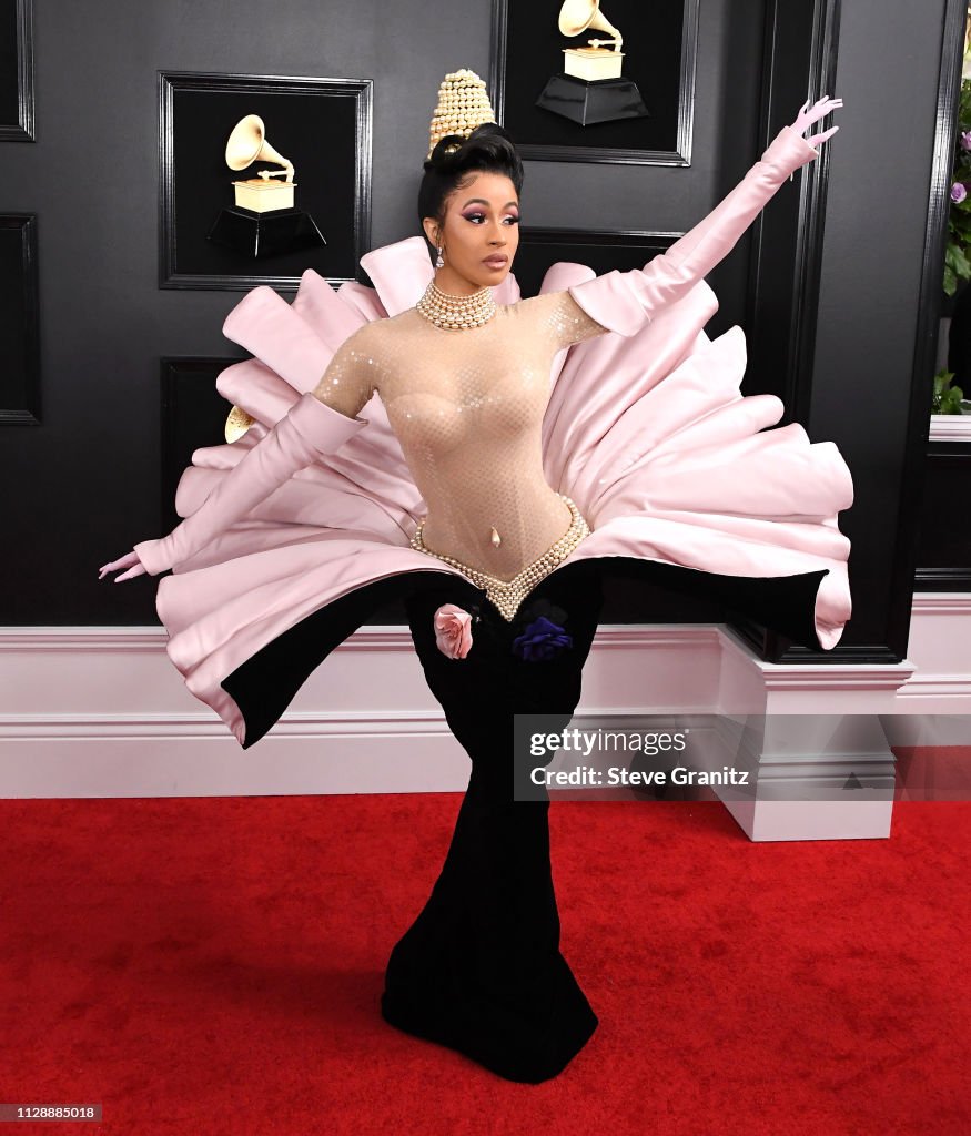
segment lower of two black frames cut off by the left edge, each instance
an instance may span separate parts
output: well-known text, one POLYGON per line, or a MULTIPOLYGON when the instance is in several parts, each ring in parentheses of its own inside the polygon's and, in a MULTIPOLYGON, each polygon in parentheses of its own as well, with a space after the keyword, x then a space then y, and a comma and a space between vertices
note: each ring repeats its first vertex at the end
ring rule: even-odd
POLYGON ((0 425, 40 426, 36 214, 0 214, 0 425))

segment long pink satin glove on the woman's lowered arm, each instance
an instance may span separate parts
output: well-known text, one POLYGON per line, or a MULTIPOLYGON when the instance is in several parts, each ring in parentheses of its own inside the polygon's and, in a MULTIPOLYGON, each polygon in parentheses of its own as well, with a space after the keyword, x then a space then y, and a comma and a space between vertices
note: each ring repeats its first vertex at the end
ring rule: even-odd
POLYGON ((103 578, 106 571, 127 568, 128 571, 115 578, 117 584, 146 571, 157 576, 182 563, 246 517, 293 474, 313 465, 321 454, 333 453, 366 425, 365 419, 349 418, 309 392, 302 394, 191 517, 168 536, 135 544, 134 552, 100 568, 98 578, 103 578))

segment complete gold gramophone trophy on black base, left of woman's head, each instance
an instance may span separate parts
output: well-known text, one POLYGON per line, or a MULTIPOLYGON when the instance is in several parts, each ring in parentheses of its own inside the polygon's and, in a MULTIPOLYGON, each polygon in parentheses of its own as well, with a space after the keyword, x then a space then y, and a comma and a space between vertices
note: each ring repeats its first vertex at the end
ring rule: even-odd
POLYGON ((224 208, 209 229, 208 240, 250 257, 273 257, 327 242, 313 217, 293 201, 293 162, 266 140, 259 115, 247 115, 226 142, 226 165, 241 170, 255 161, 272 161, 282 169, 258 169, 256 177, 233 182, 234 207, 224 208), (282 182, 273 181, 282 176, 282 182))

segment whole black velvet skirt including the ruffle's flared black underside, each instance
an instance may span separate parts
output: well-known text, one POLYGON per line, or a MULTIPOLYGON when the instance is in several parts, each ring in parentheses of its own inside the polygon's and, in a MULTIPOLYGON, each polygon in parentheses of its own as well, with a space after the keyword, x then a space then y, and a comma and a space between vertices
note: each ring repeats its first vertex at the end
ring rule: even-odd
POLYGON ((523 601, 512 624, 463 576, 429 570, 382 578, 301 619, 222 684, 243 713, 248 749, 335 646, 382 603, 404 601, 425 678, 472 771, 441 876, 391 954, 382 1013, 395 1026, 458 1050, 511 1080, 555 1077, 597 1026, 559 951, 549 801, 536 786, 522 792, 513 728, 520 713, 550 716, 543 724, 550 732, 570 724, 603 585, 619 569, 727 603, 811 650, 820 646, 813 612, 824 570, 766 579, 607 557, 557 568, 523 601), (465 659, 449 659, 435 644, 432 620, 442 603, 476 617, 465 659), (571 643, 550 658, 529 660, 513 646, 539 616, 562 626, 571 643))

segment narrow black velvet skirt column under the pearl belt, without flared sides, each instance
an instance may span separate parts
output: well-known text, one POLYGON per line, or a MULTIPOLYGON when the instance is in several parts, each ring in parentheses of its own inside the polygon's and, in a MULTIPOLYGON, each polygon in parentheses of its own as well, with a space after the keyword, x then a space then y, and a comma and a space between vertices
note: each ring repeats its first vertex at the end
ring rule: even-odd
POLYGON ((549 800, 545 790, 540 800, 514 794, 513 716, 549 715, 553 730, 570 722, 601 600, 597 561, 580 561, 541 580, 513 623, 462 579, 406 601, 429 687, 472 771, 441 875, 391 952, 381 1011, 515 1081, 555 1077, 597 1027, 559 950, 549 800), (442 603, 473 615, 464 659, 435 643, 442 603), (524 657, 514 641, 541 615, 570 638, 524 657))

